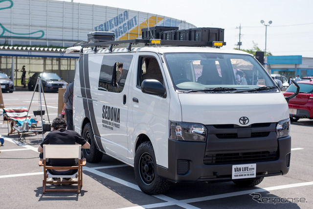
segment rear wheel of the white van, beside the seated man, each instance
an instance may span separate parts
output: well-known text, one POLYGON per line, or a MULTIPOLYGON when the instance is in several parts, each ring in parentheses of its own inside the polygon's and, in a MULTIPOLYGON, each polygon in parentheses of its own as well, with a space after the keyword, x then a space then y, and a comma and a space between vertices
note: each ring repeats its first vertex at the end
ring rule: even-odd
POLYGON ((83 138, 90 144, 90 149, 83 149, 86 161, 89 163, 98 163, 99 161, 101 161, 103 153, 97 149, 90 123, 87 123, 84 127, 83 138))

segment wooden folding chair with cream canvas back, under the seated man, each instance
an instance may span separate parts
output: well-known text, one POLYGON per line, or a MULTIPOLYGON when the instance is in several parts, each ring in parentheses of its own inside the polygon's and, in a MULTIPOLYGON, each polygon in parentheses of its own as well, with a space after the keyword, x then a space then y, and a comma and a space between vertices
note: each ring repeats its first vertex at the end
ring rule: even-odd
POLYGON ((86 165, 86 161, 81 159, 81 146, 80 144, 44 144, 44 159, 39 162, 39 166, 44 166, 44 180, 43 180, 43 194, 46 191, 76 191, 78 194, 80 192, 80 187, 83 186, 83 166, 86 165), (49 166, 46 165, 46 159, 78 159, 78 165, 75 166, 49 166), (65 170, 74 170, 77 169, 77 172, 73 175, 52 175, 49 173, 48 169, 65 169, 65 170), (53 182, 47 181, 48 178, 77 178, 74 182, 53 182), (46 188, 46 184, 54 185, 69 185, 77 184, 77 188, 66 189, 66 188, 46 188))

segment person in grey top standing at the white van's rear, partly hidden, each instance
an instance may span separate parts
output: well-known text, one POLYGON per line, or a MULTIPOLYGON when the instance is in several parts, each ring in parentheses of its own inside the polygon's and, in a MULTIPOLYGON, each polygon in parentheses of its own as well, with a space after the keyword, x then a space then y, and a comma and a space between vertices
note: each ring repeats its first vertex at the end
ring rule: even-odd
POLYGON ((65 116, 67 117, 67 130, 73 130, 73 91, 74 82, 67 85, 67 89, 63 95, 65 106, 65 116))

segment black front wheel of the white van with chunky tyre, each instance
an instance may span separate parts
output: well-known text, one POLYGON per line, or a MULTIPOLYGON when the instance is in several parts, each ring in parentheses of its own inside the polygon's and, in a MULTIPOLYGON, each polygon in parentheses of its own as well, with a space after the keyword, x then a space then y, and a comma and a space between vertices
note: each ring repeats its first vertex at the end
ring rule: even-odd
POLYGON ((156 157, 150 141, 141 143, 134 159, 135 179, 139 188, 147 194, 165 193, 170 182, 157 175, 156 157))

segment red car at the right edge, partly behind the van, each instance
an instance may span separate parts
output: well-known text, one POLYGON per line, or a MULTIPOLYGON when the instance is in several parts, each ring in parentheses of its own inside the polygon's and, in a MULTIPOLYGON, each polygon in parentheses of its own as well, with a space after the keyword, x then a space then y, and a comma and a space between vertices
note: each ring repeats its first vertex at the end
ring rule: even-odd
MULTIPOLYGON (((291 121, 299 118, 313 119, 313 80, 303 80, 297 82, 300 86, 299 94, 289 101, 289 114, 291 121)), ((284 96, 290 96, 296 91, 296 87, 288 87, 284 96)))

